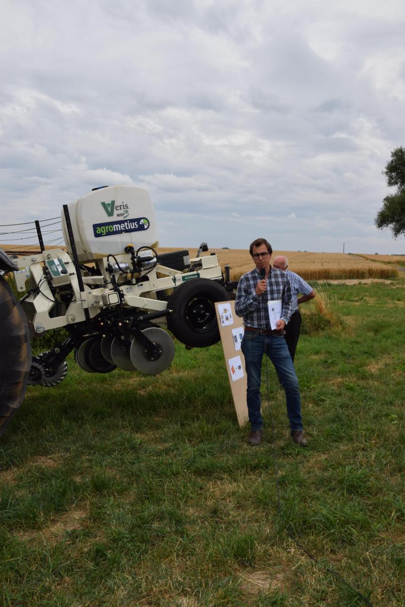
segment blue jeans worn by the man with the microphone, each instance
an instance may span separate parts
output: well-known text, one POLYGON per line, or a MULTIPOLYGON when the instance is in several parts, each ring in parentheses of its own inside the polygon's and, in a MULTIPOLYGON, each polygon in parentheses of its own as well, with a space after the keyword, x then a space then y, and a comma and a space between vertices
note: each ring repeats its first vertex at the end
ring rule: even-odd
POLYGON ((263 354, 267 354, 285 390, 290 429, 302 430, 298 378, 284 337, 260 335, 259 333, 245 331, 242 339, 242 352, 245 356, 248 379, 247 405, 251 429, 261 430, 263 426, 262 413, 260 412, 260 383, 263 354))

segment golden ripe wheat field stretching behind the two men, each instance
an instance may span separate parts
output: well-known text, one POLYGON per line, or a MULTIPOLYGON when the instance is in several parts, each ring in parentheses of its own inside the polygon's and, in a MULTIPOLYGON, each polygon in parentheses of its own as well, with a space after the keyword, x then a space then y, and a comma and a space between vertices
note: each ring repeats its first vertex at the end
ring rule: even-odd
MULTIPOLYGON (((175 248, 159 248, 158 253, 176 251, 175 248)), ((197 254, 196 248, 188 249, 190 257, 197 254)), ((209 249, 209 253, 216 253, 222 268, 230 266, 231 280, 238 280, 242 274, 253 268, 249 251, 247 249, 209 249)), ((207 253, 205 253, 207 254, 207 253)), ((288 258, 289 270, 298 273, 305 280, 333 280, 333 279, 368 279, 368 278, 396 278, 398 270, 390 263, 375 263, 366 256, 355 256, 344 253, 310 253, 307 251, 273 251, 273 259, 277 255, 288 258)), ((392 260, 391 256, 387 257, 392 260)), ((401 256, 398 259, 404 260, 401 256)), ((378 261, 380 261, 378 259, 378 261)))

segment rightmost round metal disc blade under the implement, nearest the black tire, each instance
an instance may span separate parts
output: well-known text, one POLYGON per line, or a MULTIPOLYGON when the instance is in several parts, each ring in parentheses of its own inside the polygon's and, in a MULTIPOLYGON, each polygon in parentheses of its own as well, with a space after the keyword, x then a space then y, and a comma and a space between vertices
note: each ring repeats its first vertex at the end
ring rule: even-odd
POLYGON ((174 359, 174 341, 166 331, 160 328, 150 327, 144 329, 142 333, 152 342, 160 345, 162 354, 155 361, 149 361, 145 356, 143 345, 134 339, 131 344, 131 361, 138 371, 146 373, 146 375, 162 373, 174 359))

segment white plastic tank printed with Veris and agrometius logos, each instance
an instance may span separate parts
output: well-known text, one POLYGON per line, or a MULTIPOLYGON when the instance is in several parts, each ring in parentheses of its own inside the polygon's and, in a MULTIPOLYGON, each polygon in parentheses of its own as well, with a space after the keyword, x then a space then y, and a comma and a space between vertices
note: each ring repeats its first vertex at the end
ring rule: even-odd
MULTIPOLYGON (((67 205, 80 262, 124 253, 126 245, 156 248, 157 227, 148 192, 135 186, 98 188, 67 205)), ((69 236, 62 210, 62 229, 69 254, 69 236)))

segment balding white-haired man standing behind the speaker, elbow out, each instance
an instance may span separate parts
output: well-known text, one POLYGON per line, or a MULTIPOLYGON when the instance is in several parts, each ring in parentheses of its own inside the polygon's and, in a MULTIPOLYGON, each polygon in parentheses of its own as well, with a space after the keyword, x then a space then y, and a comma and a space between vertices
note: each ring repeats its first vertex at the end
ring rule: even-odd
POLYGON ((288 351, 290 352, 291 358, 294 361, 295 351, 299 339, 299 330, 302 322, 298 305, 313 299, 316 296, 316 293, 313 288, 301 278, 301 276, 287 270, 288 259, 284 255, 274 257, 273 268, 277 268, 277 270, 284 270, 288 276, 288 280, 290 280, 291 291, 293 292, 291 318, 288 321, 288 324, 285 325, 285 341, 287 342, 288 351), (302 293, 301 297, 298 297, 299 293, 302 293))

